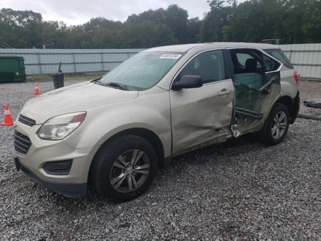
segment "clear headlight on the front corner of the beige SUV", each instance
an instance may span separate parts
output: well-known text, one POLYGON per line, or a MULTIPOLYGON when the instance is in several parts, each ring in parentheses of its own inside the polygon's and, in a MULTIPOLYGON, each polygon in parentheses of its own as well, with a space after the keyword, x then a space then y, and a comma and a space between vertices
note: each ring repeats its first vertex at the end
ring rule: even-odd
POLYGON ((52 117, 38 131, 38 137, 44 140, 61 140, 76 130, 84 121, 87 112, 75 112, 52 117))

